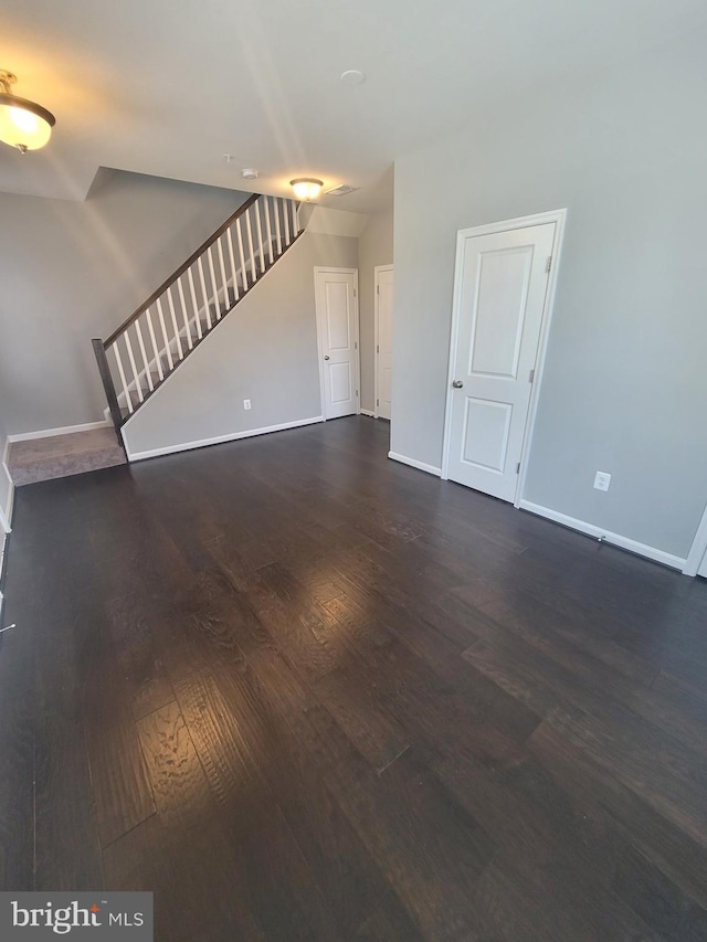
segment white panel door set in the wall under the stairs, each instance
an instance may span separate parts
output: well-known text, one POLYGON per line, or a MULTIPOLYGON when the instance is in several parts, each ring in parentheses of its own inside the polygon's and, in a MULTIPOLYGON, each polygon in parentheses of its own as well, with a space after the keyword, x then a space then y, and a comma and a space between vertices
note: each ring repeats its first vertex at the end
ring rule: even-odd
POLYGON ((325 419, 358 412, 358 274, 317 268, 316 303, 325 419))

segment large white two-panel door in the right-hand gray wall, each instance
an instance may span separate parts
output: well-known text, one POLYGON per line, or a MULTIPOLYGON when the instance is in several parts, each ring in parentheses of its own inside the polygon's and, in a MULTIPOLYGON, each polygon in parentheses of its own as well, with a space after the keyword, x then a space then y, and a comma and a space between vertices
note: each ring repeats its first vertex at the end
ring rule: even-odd
POLYGON ((504 500, 516 496, 555 227, 460 236, 447 473, 504 500))

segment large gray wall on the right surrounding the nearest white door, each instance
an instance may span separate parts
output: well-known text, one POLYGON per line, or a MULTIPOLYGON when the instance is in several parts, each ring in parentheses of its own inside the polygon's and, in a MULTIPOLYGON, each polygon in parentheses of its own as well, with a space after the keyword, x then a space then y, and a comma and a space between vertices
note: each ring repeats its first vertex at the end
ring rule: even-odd
POLYGON ((395 452, 441 464, 456 231, 567 207, 525 497, 687 554, 707 496, 701 62, 666 46, 397 162, 395 452))

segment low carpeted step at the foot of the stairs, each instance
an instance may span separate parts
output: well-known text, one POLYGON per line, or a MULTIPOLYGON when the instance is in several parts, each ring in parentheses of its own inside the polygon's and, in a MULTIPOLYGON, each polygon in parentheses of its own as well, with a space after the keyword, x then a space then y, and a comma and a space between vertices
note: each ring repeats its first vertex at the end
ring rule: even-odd
POLYGON ((113 428, 12 442, 8 469, 15 487, 126 464, 113 428))

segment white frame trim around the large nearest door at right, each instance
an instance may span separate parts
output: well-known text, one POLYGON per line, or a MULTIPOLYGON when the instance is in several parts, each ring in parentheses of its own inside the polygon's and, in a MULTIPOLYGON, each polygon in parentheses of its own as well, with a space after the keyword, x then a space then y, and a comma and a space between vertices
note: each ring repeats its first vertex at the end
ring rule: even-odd
POLYGON ((535 360, 535 377, 532 380, 532 389, 530 390, 530 402, 528 405, 528 416, 526 419, 526 427, 523 433, 523 448, 520 452, 520 473, 516 485, 516 496, 514 498, 514 507, 520 506, 520 500, 525 493, 526 473, 528 465, 528 455, 530 453, 530 444, 532 442, 532 433, 535 431, 535 421, 538 411, 538 398, 540 385, 542 384, 542 374, 545 371, 545 354, 550 336, 550 324, 552 321, 552 311, 555 307, 555 294, 557 289, 557 276, 560 271, 560 261, 562 255, 562 244, 564 242, 564 224, 567 220, 567 208, 561 210, 550 210, 549 212, 535 213, 534 215, 518 216, 517 219, 507 219, 503 222, 492 222, 487 225, 475 225, 471 229, 460 229, 456 233, 456 256, 454 262, 454 293, 452 300, 452 332, 450 335, 450 362, 446 378, 446 405, 444 409, 444 440, 442 445, 442 480, 449 480, 450 468, 450 449, 451 449, 451 424, 452 424, 452 380, 454 379, 454 367, 456 363, 456 351, 458 341, 458 330, 461 321, 461 305, 462 305, 462 262, 464 258, 464 243, 469 237, 477 235, 494 235, 499 232, 508 232, 516 229, 529 229, 534 225, 544 225, 548 222, 555 223, 555 241, 552 243, 552 264, 550 266, 550 277, 548 278, 548 287, 545 295, 545 304, 542 306, 542 319, 540 321, 540 337, 538 340, 538 351, 535 360))

